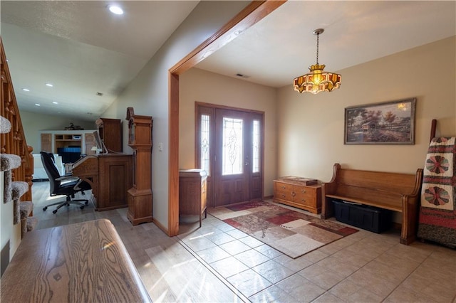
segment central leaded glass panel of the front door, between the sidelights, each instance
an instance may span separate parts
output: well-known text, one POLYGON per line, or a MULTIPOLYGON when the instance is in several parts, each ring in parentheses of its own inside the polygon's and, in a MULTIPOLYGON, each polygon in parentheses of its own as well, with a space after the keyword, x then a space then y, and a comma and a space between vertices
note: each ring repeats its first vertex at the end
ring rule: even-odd
POLYGON ((223 117, 222 175, 242 174, 242 119, 223 117))

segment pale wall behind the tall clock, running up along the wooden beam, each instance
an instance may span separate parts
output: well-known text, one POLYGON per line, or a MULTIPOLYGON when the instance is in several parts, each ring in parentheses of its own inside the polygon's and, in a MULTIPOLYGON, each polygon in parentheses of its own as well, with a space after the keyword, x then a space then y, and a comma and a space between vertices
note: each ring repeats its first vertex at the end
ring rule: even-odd
MULTIPOLYGON (((162 226, 168 226, 168 153, 169 108, 168 70, 199 44, 222 28, 249 1, 201 1, 172 33, 165 45, 158 50, 138 76, 122 92, 103 117, 125 119, 127 107, 133 107, 136 115, 153 117, 152 129, 152 192, 153 217, 162 226), (163 151, 158 151, 162 143, 163 151)), ((123 151, 131 153, 127 146, 128 124, 123 124, 123 151)))

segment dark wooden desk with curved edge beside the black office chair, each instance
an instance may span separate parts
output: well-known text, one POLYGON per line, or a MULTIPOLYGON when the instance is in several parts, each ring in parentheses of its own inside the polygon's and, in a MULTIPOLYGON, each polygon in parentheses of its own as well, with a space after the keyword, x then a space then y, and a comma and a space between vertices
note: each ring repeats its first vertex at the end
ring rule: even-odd
POLYGON ((85 156, 73 164, 73 175, 92 186, 95 211, 128 206, 127 191, 132 187, 132 170, 130 154, 85 156))

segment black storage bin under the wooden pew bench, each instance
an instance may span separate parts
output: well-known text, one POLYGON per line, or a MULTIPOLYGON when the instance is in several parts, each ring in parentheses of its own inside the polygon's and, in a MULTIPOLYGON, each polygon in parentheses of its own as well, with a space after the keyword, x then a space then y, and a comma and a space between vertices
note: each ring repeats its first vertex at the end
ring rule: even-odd
POLYGON ((333 200, 336 219, 358 228, 381 233, 391 227, 392 211, 333 200))

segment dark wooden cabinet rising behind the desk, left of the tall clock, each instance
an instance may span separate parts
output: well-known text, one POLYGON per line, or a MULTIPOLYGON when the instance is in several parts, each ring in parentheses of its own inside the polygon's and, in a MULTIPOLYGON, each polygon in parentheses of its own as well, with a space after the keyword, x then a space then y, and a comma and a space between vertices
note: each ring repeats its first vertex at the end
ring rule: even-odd
POLYGON ((122 122, 120 119, 98 118, 95 121, 100 139, 108 152, 122 152, 122 122))

